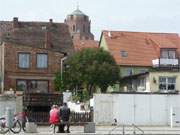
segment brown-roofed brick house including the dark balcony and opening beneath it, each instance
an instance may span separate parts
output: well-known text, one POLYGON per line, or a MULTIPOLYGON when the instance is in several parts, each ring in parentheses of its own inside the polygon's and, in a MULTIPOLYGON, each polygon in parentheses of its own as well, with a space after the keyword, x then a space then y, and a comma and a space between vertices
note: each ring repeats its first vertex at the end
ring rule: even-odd
POLYGON ((16 17, 1 21, 0 94, 12 88, 20 94, 18 106, 23 104, 29 118, 47 122, 51 105, 62 102, 62 95, 54 88, 55 73, 62 71, 63 59, 73 52, 64 23, 54 23, 52 19, 22 22, 16 17))

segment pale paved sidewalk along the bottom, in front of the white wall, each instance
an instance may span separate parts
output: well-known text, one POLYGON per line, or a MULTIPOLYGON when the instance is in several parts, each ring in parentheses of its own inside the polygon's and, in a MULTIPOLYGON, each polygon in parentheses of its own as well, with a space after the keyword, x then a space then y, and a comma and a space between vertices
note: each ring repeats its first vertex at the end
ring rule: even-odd
MULTIPOLYGON (((83 126, 71 126, 69 135, 110 135, 110 134, 116 134, 116 135, 121 135, 123 133, 123 128, 122 126, 116 127, 115 126, 96 126, 96 133, 90 134, 90 133, 84 133, 84 127, 83 126), (114 129, 114 130, 113 130, 114 129)), ((162 135, 162 134, 170 134, 170 135, 180 135, 180 127, 161 127, 161 126, 141 126, 140 127, 143 131, 144 134, 150 135, 162 135)), ((51 135, 53 134, 53 129, 48 127, 48 126, 38 126, 37 129, 38 133, 24 133, 21 132, 20 135, 51 135)), ((8 133, 8 134, 13 134, 13 133, 8 133)), ((55 134, 67 134, 67 133, 55 133, 55 134)), ((133 134, 133 127, 126 126, 125 127, 125 134, 133 134)), ((142 134, 142 132, 138 131, 136 129, 136 134, 142 134)))

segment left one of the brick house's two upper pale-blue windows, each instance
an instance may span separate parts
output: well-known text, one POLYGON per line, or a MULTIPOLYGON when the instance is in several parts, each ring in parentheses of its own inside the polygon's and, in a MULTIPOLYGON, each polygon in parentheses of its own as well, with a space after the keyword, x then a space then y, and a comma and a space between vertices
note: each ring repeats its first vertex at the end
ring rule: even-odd
POLYGON ((30 54, 29 53, 19 53, 18 59, 19 59, 19 68, 30 67, 30 64, 29 64, 30 54))

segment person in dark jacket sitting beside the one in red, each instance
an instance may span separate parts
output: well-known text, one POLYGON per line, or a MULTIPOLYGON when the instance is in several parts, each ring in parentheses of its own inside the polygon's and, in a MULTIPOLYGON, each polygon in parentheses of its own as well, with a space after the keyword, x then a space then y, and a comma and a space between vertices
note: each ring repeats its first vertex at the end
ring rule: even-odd
POLYGON ((67 126, 67 133, 70 133, 69 131, 69 117, 70 117, 70 108, 67 106, 67 103, 63 103, 63 106, 59 110, 59 117, 61 118, 62 124, 59 125, 59 131, 61 133, 64 133, 64 127, 67 126), (65 124, 64 124, 65 123, 65 124))

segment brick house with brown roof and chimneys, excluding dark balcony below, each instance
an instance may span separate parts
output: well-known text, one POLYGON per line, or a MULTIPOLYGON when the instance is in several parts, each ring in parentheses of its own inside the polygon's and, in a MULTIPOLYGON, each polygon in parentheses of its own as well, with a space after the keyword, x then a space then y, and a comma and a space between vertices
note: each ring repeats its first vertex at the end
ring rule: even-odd
POLYGON ((64 23, 1 22, 1 87, 48 93, 54 90, 54 74, 61 58, 73 53, 64 23))

